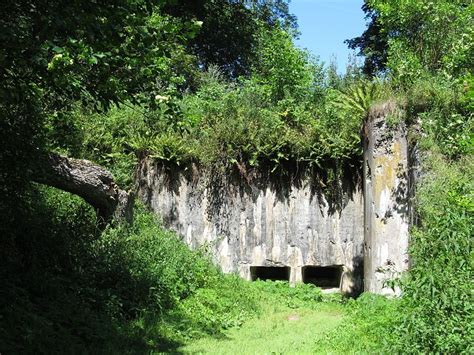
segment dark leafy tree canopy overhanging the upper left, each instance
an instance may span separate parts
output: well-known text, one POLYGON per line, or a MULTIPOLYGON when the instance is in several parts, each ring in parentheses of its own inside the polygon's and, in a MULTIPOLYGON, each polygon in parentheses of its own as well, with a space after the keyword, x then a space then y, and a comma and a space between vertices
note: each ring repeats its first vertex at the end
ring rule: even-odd
POLYGON ((21 194, 38 154, 68 144, 73 106, 154 108, 209 65, 235 79, 256 60, 262 26, 296 26, 283 0, 7 0, 0 15, 0 179, 9 196, 21 194))

